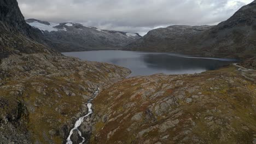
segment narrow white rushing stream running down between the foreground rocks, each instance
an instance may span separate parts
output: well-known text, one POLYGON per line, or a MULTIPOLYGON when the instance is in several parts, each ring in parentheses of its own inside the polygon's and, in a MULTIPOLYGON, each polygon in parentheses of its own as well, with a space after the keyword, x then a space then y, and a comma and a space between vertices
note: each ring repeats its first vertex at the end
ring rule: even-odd
POLYGON ((74 128, 71 129, 71 131, 69 132, 69 135, 68 135, 67 143, 66 143, 66 144, 73 144, 73 142, 72 142, 72 140, 71 140, 71 136, 73 135, 73 131, 74 131, 74 130, 77 130, 79 136, 83 139, 83 141, 80 142, 79 144, 83 144, 83 143, 85 142, 85 138, 82 136, 82 133, 81 133, 81 131, 80 131, 78 128, 79 128, 80 125, 84 122, 84 118, 86 118, 86 117, 90 116, 92 113, 94 113, 94 112, 92 111, 92 109, 91 109, 91 108, 92 108, 92 102, 91 102, 91 101, 94 100, 94 99, 97 97, 97 95, 98 95, 99 92, 100 92, 100 88, 98 87, 97 91, 94 92, 94 97, 88 100, 88 103, 87 103, 88 113, 87 113, 85 116, 80 117, 80 118, 77 120, 77 122, 75 122, 74 128))

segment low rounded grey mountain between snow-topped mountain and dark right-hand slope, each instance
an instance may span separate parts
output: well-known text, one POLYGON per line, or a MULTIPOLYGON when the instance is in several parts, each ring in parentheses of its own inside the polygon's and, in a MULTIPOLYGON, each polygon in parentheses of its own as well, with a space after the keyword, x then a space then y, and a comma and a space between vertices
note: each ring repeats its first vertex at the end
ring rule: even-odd
POLYGON ((149 31, 144 37, 129 44, 127 49, 135 51, 181 52, 187 51, 199 35, 212 26, 169 26, 149 31))

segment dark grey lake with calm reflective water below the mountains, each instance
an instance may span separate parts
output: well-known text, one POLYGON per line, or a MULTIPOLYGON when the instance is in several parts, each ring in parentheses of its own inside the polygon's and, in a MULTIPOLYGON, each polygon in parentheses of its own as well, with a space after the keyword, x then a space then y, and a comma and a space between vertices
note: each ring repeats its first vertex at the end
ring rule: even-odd
POLYGON ((134 51, 65 52, 63 55, 129 68, 132 71, 130 76, 158 73, 195 74, 206 70, 215 70, 236 61, 236 59, 229 58, 201 58, 177 53, 134 51))

